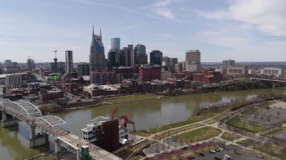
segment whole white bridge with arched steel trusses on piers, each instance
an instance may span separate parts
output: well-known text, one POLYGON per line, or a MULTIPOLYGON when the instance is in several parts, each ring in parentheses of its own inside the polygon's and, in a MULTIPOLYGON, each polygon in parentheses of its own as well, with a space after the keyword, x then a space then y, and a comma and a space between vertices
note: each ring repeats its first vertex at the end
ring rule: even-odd
MULTIPOLYGON (((102 148, 88 143, 77 135, 69 131, 68 125, 58 116, 43 116, 37 106, 26 100, 11 101, 0 99, 0 111, 2 112, 2 122, 9 121, 7 114, 13 116, 13 122, 17 119, 26 122, 30 126, 30 138, 34 140, 32 147, 37 145, 35 129, 52 136, 55 139, 55 154, 66 148, 76 154, 77 159, 81 156, 81 146, 88 147, 90 159, 122 159, 102 148)), ((47 139, 46 139, 47 140, 47 139)), ((42 143, 41 143, 42 144, 42 143)))

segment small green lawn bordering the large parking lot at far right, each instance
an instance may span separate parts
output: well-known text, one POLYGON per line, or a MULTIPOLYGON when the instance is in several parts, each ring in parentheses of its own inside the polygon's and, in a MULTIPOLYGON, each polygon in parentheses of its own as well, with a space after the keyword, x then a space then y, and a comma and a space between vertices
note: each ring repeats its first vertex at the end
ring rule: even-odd
POLYGON ((238 127, 238 128, 244 129, 249 132, 254 132, 254 133, 262 132, 264 130, 262 126, 243 122, 241 117, 235 117, 231 119, 230 121, 228 121, 227 124, 230 124, 234 127, 238 127))

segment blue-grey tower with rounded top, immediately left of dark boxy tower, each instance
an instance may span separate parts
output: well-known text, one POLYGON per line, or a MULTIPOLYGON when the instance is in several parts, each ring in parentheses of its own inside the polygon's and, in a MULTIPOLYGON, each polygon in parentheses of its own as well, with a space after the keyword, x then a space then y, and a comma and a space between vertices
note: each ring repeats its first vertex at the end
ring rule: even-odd
POLYGON ((134 47, 134 57, 135 57, 135 64, 147 64, 147 53, 146 53, 146 46, 143 44, 137 44, 134 47))

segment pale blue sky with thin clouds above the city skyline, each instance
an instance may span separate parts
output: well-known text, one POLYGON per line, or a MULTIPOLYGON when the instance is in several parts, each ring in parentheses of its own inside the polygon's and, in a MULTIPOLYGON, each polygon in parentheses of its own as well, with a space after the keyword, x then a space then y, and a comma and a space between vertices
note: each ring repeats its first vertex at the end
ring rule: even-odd
MULTIPOLYGON (((0 0, 0 61, 88 62, 92 27, 121 48, 144 44, 147 54, 202 62, 286 61, 285 0, 0 0)), ((148 56, 149 59, 149 56, 148 56)))

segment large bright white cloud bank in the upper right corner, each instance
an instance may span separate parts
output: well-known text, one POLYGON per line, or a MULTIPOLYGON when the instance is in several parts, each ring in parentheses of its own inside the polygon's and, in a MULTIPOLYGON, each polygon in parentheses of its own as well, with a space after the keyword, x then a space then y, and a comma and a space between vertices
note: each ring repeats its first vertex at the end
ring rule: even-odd
POLYGON ((213 20, 241 21, 271 36, 286 36, 285 8, 284 0, 231 0, 227 9, 198 11, 198 15, 213 20))

